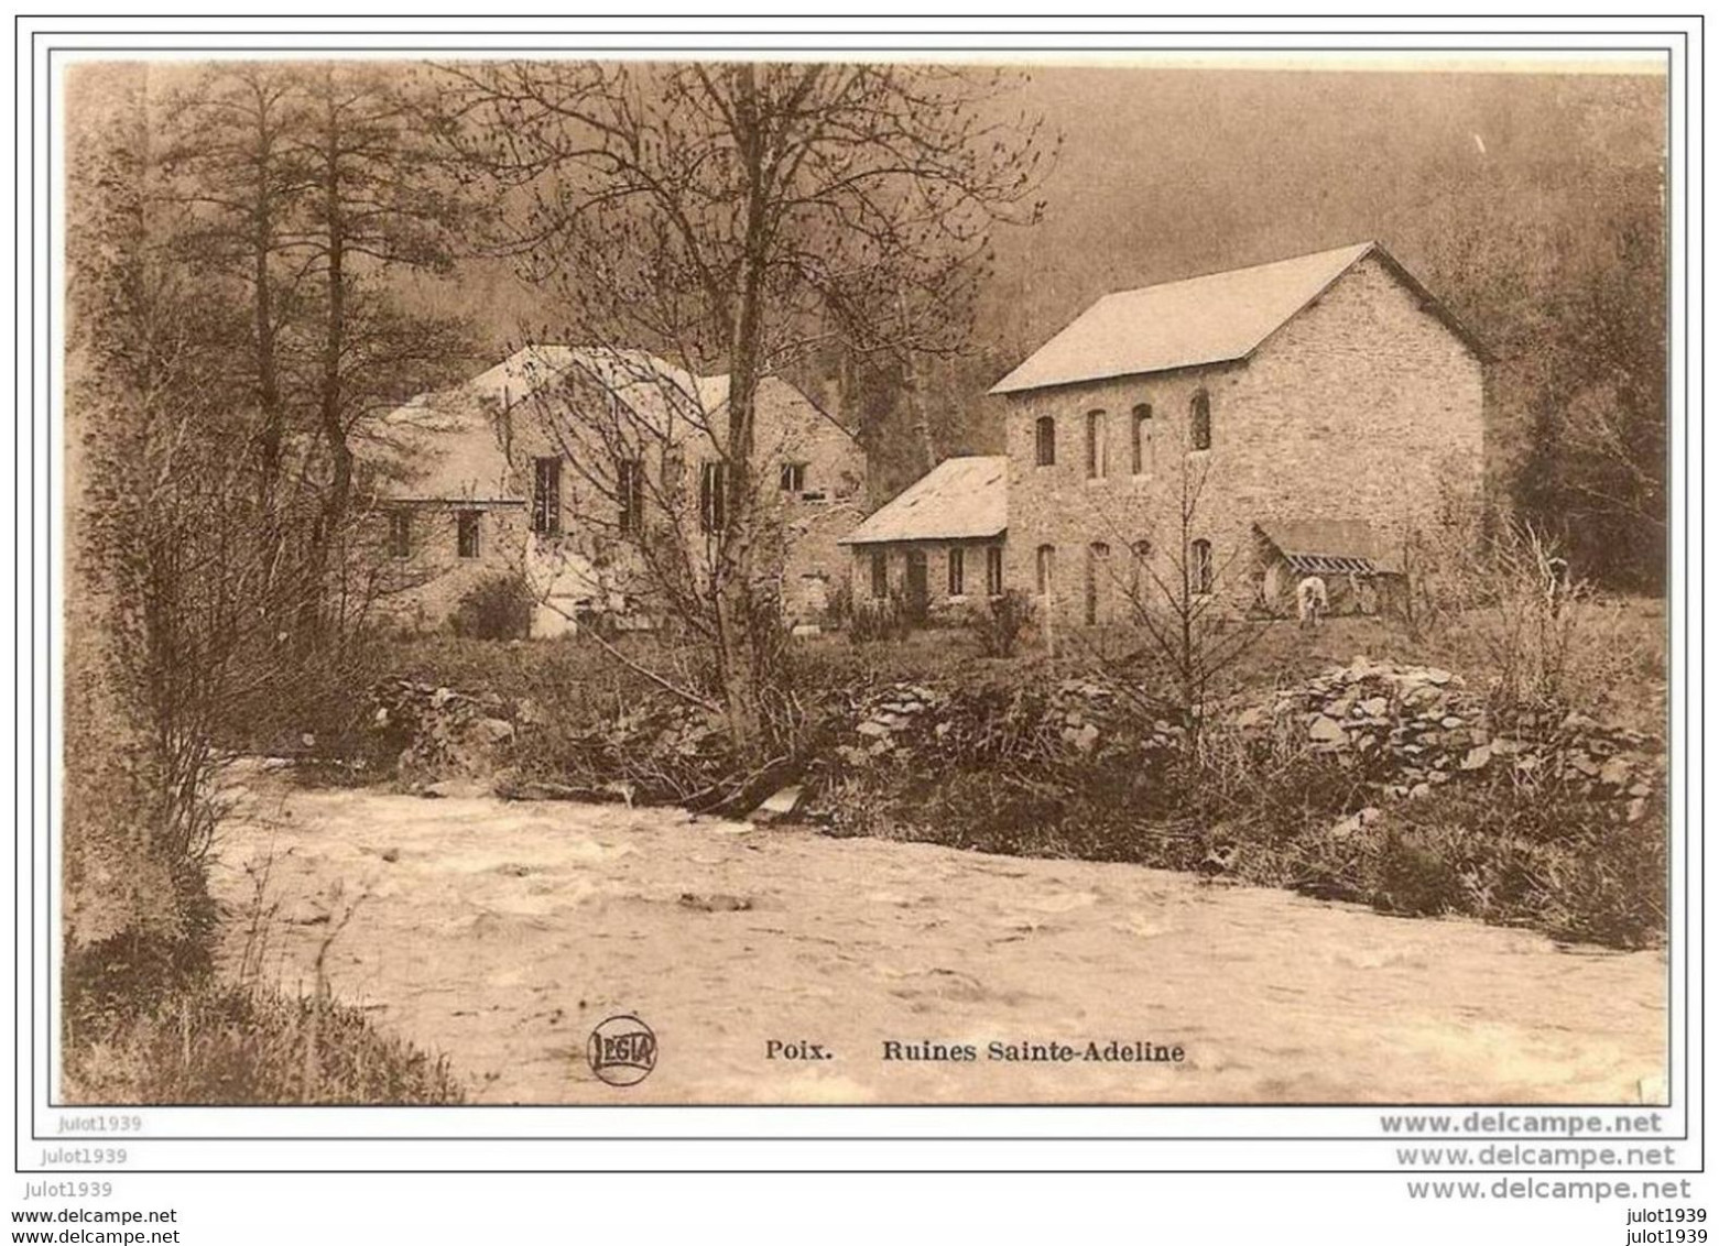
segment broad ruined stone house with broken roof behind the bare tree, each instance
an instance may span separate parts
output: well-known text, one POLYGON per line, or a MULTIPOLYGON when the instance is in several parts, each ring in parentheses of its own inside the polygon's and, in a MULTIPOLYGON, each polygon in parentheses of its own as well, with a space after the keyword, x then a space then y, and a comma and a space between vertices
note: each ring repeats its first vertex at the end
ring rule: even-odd
MULTIPOLYGON (((648 626, 665 577, 696 583, 725 522, 727 397, 727 376, 641 351, 533 345, 399 407, 378 464, 382 610, 431 629, 519 576, 535 636, 591 615, 648 626)), ((755 411, 767 569, 784 610, 815 617, 846 576, 835 541, 863 512, 865 455, 777 376, 755 411)))

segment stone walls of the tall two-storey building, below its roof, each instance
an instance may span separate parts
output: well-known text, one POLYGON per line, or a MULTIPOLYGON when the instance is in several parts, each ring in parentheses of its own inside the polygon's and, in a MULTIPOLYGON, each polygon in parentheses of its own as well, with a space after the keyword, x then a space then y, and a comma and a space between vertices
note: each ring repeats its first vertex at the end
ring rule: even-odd
POLYGON ((1055 547, 1061 620, 1085 614, 1093 543, 1100 619, 1126 614, 1129 550, 1169 560, 1184 485, 1198 495, 1191 540, 1212 545, 1219 589, 1253 595, 1251 528, 1270 519, 1365 519, 1387 548, 1435 516, 1446 481, 1478 498, 1483 382, 1477 356, 1368 258, 1243 363, 1064 385, 1009 397, 1007 579, 1035 591, 1040 545, 1055 547), (1191 447, 1195 394, 1210 402, 1212 443, 1191 447), (1141 423, 1135 471, 1131 423, 1141 423), (1086 418, 1102 412, 1105 469, 1086 467, 1086 418), (1035 461, 1035 421, 1055 421, 1055 466, 1035 461))

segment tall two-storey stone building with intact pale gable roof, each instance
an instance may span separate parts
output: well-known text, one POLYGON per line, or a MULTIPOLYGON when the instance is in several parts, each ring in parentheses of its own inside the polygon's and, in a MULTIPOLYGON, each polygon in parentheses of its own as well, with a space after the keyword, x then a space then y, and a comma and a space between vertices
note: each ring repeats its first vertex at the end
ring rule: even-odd
MULTIPOLYGON (((1184 571, 1239 607, 1308 572, 1377 600, 1410 533, 1480 495, 1483 359, 1377 242, 1109 294, 992 388, 1000 586, 1073 626, 1184 571)), ((933 538, 897 517, 901 548, 933 538)))

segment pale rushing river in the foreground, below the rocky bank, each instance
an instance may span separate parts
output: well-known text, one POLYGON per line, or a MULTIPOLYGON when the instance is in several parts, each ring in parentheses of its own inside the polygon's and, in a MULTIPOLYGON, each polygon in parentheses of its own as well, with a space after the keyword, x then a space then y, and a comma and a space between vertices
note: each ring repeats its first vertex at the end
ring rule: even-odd
MULTIPOLYGON (((478 1102, 1547 1102, 1662 1096, 1666 966, 1126 864, 672 809, 289 791, 251 777, 213 882, 272 856, 270 971, 447 1052, 478 1102), (743 907, 746 906, 746 907, 743 907), (634 1012, 660 1057, 591 1074, 634 1012), (1143 1040, 1172 1062, 988 1060, 1143 1040), (767 1059, 808 1040, 834 1059, 767 1059), (973 1062, 884 1060, 971 1043, 973 1062)), ((234 928, 241 923, 232 923, 234 928)), ((237 938, 237 935, 236 935, 237 938)))

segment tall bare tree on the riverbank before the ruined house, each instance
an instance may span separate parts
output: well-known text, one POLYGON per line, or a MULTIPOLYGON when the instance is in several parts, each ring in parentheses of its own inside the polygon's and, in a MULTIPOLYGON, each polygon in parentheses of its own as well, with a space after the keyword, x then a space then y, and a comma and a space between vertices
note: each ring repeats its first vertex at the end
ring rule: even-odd
POLYGON ((760 378, 846 335, 951 349, 999 220, 1031 220, 1038 124, 1004 77, 939 65, 509 62, 447 69, 444 136, 517 187, 517 254, 567 333, 729 376, 710 651, 737 751, 763 749, 760 378), (902 335, 918 335, 902 342, 902 335))

